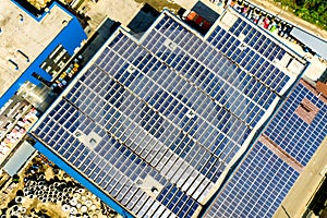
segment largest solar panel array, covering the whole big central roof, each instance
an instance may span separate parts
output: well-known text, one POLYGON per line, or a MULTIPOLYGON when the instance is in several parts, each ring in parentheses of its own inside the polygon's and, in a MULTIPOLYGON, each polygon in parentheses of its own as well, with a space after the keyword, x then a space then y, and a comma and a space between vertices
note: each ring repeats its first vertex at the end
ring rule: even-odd
POLYGON ((118 32, 33 134, 134 215, 191 217, 284 86, 162 14, 140 43, 118 32))

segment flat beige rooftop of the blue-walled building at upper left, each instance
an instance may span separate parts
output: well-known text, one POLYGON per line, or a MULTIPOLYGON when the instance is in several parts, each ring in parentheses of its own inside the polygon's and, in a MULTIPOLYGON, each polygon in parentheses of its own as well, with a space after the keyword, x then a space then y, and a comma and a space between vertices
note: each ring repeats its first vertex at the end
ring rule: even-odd
POLYGON ((52 4, 50 11, 37 21, 12 1, 1 2, 0 97, 71 20, 72 16, 57 4, 52 4), (16 66, 9 60, 17 64, 19 69, 15 70, 16 66))

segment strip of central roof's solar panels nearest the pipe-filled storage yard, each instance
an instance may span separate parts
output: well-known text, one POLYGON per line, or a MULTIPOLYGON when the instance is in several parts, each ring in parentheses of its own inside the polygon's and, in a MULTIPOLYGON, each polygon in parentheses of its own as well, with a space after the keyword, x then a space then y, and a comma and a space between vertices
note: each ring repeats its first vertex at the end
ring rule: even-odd
MULTIPOLYGON (((114 116, 118 117, 117 113, 114 116)), ((56 106, 40 123, 35 134, 90 181, 138 216, 146 217, 145 214, 147 214, 148 217, 168 217, 171 214, 162 205, 160 206, 158 201, 142 191, 136 185, 136 181, 150 175, 166 189, 172 186, 171 182, 168 182, 165 177, 126 146, 122 146, 102 126, 78 111, 68 99, 62 99, 56 106), (94 147, 87 146, 73 134, 76 130, 84 134, 97 132, 101 136, 101 141, 94 147)), ((141 138, 138 136, 135 140, 141 138)), ((146 141, 146 138, 143 140, 146 141)), ((180 216, 187 217, 187 213, 189 216, 192 215, 198 203, 181 191, 175 195, 179 196, 178 199, 182 204, 174 207, 177 205, 172 201, 175 201, 177 197, 173 197, 171 202, 168 202, 169 204, 167 203, 168 208, 174 208, 177 214, 180 211, 180 216)), ((162 204, 166 205, 166 202, 162 204)))

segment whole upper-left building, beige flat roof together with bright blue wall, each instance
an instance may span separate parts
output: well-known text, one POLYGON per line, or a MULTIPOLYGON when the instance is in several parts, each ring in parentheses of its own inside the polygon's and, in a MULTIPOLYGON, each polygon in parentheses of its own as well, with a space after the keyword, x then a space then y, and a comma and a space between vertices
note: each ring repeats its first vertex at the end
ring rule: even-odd
POLYGON ((36 85, 40 83, 33 73, 51 80, 51 75, 41 69, 41 63, 59 45, 73 55, 86 39, 78 20, 57 2, 49 7, 48 12, 35 17, 19 3, 3 1, 0 27, 0 107, 26 81, 36 85), (17 64, 17 70, 14 64, 17 64))

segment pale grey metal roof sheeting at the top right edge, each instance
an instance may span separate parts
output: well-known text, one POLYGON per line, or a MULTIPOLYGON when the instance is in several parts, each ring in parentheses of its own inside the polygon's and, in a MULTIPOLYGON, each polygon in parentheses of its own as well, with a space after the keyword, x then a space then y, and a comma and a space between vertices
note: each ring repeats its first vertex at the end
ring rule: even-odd
POLYGON ((293 27, 290 33, 293 37, 300 40, 302 44, 311 48, 318 56, 327 59, 327 41, 306 33, 298 27, 293 27))

